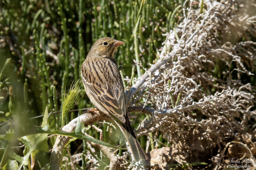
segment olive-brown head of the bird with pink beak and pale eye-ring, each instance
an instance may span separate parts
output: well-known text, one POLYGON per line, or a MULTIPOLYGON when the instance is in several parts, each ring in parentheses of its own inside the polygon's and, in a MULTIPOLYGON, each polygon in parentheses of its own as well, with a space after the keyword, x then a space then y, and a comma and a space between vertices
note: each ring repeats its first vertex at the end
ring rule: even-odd
POLYGON ((104 37, 95 41, 89 53, 94 53, 106 58, 114 58, 114 53, 118 46, 124 44, 114 38, 104 37))

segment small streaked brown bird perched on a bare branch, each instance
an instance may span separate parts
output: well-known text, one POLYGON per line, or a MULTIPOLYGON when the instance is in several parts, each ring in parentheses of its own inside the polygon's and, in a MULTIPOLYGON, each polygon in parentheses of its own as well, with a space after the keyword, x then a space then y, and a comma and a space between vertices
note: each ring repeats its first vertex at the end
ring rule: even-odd
POLYGON ((140 146, 127 115, 124 85, 114 58, 117 47, 122 44, 123 41, 113 38, 95 41, 82 64, 81 75, 89 99, 116 122, 138 162, 148 159, 148 156, 140 146))

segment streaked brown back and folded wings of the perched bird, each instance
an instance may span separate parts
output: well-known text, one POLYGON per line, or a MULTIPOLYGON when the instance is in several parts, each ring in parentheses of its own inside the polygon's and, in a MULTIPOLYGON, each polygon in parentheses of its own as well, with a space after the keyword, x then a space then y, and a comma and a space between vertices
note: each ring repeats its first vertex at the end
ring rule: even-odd
POLYGON ((118 120, 125 123, 124 85, 115 61, 92 58, 83 63, 82 80, 93 99, 118 120))

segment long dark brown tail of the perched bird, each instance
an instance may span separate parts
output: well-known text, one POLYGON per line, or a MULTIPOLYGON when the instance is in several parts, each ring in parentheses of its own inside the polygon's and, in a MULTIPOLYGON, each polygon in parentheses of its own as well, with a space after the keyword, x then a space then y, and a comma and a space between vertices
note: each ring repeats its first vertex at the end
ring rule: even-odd
POLYGON ((145 153, 145 151, 142 149, 138 139, 136 138, 136 136, 132 130, 130 122, 126 122, 126 124, 124 124, 123 126, 117 122, 116 122, 116 124, 119 126, 119 128, 123 132, 124 137, 126 138, 128 144, 131 148, 134 160, 136 162, 139 162, 140 159, 147 160, 148 156, 145 153))

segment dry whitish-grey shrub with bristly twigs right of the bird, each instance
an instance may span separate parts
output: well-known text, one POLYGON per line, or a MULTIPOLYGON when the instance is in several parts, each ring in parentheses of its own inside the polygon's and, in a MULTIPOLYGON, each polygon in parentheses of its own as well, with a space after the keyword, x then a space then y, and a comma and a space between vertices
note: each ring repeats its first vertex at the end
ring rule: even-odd
MULTIPOLYGON (((134 110, 152 115, 140 124, 138 135, 154 132, 156 139, 161 132, 179 151, 180 157, 173 157, 172 162, 210 162, 208 168, 222 168, 226 165, 223 149, 230 141, 246 144, 252 151, 248 158, 256 154, 255 87, 243 83, 245 76, 253 75, 256 64, 256 42, 250 40, 256 36, 256 16, 246 14, 248 1, 204 4, 203 13, 184 5, 183 22, 166 34, 158 61, 145 69, 147 76, 135 80, 127 96, 130 101, 134 95, 134 110), (142 97, 146 105, 156 108, 141 106, 137 101, 142 97)), ((131 81, 128 77, 125 80, 131 81)), ((234 149, 234 144, 231 146, 234 149)), ((239 149, 228 150, 229 156, 234 153, 245 154, 239 149)))

